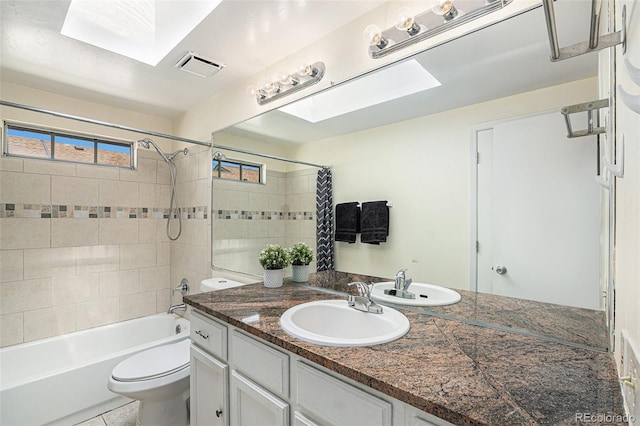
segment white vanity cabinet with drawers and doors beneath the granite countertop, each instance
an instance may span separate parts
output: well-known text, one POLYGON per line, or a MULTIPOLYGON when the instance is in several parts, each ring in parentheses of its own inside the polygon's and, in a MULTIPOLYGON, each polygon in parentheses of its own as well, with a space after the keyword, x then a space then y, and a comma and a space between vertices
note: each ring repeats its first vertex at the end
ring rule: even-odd
POLYGON ((450 425, 198 311, 191 318, 191 425, 450 425))

